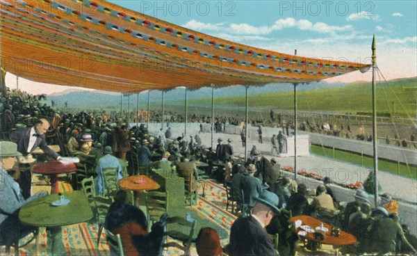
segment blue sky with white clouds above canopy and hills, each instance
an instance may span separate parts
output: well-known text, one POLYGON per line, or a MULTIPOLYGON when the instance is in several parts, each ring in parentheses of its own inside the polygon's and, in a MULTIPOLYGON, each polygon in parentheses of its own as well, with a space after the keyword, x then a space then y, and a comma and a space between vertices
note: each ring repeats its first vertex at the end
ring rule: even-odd
MULTIPOLYGON (((375 33, 377 65, 384 77, 417 76, 415 0, 111 2, 208 35, 285 54, 297 49, 297 55, 306 57, 370 63, 375 33)), ((6 77, 12 88, 13 77, 6 77)), ((325 81, 370 79, 370 72, 353 72, 325 81)))

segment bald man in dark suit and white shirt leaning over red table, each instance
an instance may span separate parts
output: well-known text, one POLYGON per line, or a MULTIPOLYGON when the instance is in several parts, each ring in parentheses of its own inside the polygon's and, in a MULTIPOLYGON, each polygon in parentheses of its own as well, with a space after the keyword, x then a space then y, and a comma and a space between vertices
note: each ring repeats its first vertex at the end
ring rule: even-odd
MULTIPOLYGON (((13 134, 10 134, 10 139, 17 144, 17 151, 23 155, 31 154, 33 150, 37 147, 49 157, 53 159, 58 159, 59 154, 54 150, 51 150, 48 147, 47 141, 45 139, 45 133, 49 129, 49 122, 46 119, 40 119, 35 123, 33 127, 26 127, 22 129, 17 129, 13 134)), ((19 183, 22 188, 22 195, 25 199, 31 197, 31 186, 32 186, 32 173, 31 169, 27 166, 20 166, 20 169, 23 170, 20 173, 17 183, 19 183)))

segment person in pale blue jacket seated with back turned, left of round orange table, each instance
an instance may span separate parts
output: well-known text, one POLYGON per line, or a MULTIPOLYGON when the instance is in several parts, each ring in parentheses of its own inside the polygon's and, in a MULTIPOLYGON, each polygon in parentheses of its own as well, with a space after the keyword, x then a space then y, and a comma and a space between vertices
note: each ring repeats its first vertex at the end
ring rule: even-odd
POLYGON ((111 146, 104 147, 104 154, 104 157, 101 157, 97 162, 97 177, 95 177, 95 191, 97 195, 103 195, 104 193, 104 169, 117 168, 117 179, 122 179, 123 168, 120 164, 120 161, 113 156, 113 150, 111 150, 111 146))

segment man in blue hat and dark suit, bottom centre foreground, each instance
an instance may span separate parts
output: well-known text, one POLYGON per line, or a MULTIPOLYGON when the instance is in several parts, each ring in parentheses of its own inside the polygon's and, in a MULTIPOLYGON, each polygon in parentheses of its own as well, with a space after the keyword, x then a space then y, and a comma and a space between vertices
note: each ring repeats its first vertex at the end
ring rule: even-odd
POLYGON ((231 225, 229 255, 272 256, 276 255, 274 244, 265 231, 272 217, 279 214, 279 199, 275 193, 263 191, 255 198, 251 216, 239 217, 231 225))

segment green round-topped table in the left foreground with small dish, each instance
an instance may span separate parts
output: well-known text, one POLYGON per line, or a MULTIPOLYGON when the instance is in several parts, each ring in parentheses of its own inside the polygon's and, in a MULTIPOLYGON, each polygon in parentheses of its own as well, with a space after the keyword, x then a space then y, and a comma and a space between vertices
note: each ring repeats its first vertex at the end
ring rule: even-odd
MULTIPOLYGON (((92 219, 93 214, 87 197, 81 191, 74 191, 72 193, 65 193, 66 198, 70 200, 68 205, 52 206, 51 203, 60 199, 60 195, 51 194, 38 198, 24 205, 19 211, 19 220, 25 225, 34 227, 47 227, 50 237, 51 232, 60 232, 63 225, 72 225, 76 223, 83 223, 92 219), (51 230, 49 230, 51 229, 51 230)), ((51 250, 51 243, 63 243, 60 234, 52 234, 54 239, 49 241, 49 250, 51 250), (54 241, 58 239, 60 241, 54 241)), ((63 247, 63 244, 60 245, 63 247)), ((39 239, 36 239, 36 254, 39 255, 39 239)))

